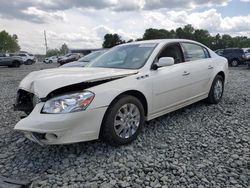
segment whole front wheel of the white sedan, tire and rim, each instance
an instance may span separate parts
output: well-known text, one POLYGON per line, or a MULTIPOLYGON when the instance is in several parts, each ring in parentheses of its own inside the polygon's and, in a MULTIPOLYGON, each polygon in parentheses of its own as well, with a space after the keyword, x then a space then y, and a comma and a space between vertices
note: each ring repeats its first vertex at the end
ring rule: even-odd
POLYGON ((101 138, 111 145, 124 145, 137 138, 145 122, 141 102, 130 95, 116 99, 103 120, 101 138))

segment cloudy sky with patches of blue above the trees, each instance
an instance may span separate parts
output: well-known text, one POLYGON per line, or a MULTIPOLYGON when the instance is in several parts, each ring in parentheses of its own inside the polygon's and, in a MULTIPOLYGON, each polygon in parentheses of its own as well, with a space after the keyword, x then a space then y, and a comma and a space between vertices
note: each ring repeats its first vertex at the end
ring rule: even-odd
POLYGON ((250 0, 0 0, 0 31, 17 34, 21 50, 44 54, 66 43, 70 49, 99 48, 106 33, 124 40, 145 29, 196 29, 250 37, 250 0))

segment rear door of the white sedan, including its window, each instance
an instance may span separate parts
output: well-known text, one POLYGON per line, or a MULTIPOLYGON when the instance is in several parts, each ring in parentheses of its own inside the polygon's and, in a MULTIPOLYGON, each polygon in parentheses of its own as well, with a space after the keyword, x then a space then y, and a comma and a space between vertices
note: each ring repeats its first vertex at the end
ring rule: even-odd
POLYGON ((208 93, 210 81, 213 79, 214 62, 208 50, 194 43, 181 43, 185 64, 188 66, 189 77, 192 80, 187 92, 188 98, 200 97, 208 93))

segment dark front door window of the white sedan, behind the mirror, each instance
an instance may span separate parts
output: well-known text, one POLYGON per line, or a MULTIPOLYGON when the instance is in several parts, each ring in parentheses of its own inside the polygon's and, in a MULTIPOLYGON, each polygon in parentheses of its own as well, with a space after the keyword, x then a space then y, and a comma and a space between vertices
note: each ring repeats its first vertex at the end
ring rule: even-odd
POLYGON ((158 60, 161 57, 172 57, 174 58, 174 63, 184 62, 182 51, 179 44, 171 44, 165 47, 158 56, 158 60))

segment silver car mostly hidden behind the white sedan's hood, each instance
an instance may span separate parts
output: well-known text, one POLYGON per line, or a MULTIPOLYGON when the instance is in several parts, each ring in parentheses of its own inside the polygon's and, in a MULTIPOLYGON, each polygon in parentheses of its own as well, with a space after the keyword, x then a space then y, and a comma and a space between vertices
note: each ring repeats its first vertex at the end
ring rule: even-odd
POLYGON ((64 64, 61 67, 84 67, 87 64, 89 64, 89 62, 94 61, 96 58, 98 58, 99 56, 104 54, 106 51, 107 50, 100 50, 100 51, 92 52, 92 53, 78 59, 78 61, 73 61, 71 63, 64 64))

